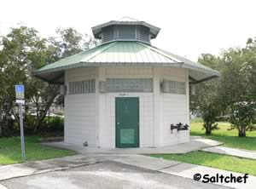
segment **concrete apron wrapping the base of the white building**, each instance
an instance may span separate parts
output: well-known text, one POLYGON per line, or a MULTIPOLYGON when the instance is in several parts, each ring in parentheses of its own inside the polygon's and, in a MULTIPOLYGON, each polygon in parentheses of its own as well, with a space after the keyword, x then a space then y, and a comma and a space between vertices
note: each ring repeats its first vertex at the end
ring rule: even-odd
POLYGON ((47 142, 42 143, 45 146, 53 146, 61 149, 73 150, 84 154, 163 154, 163 153, 187 153, 198 151, 206 147, 219 146, 216 140, 204 139, 199 136, 190 136, 190 141, 183 144, 165 147, 140 147, 140 148, 92 148, 82 145, 72 145, 64 142, 47 142))

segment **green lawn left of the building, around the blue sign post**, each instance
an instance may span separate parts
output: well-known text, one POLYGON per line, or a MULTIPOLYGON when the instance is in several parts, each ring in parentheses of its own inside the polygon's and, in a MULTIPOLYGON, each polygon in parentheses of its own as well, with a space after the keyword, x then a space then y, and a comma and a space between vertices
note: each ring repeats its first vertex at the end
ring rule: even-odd
MULTIPOLYGON (((75 152, 42 146, 38 136, 26 136, 26 160, 39 160, 73 155, 75 152)), ((0 138, 0 164, 20 163, 20 137, 0 138)))

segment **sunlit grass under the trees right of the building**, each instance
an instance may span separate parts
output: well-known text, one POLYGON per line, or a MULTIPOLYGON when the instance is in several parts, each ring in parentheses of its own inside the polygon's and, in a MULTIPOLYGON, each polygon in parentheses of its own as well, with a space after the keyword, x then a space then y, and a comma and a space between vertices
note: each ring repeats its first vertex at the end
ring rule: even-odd
POLYGON ((221 141, 224 146, 256 151, 256 131, 247 131, 247 137, 242 138, 237 136, 237 129, 228 130, 230 123, 218 123, 218 127, 218 130, 212 131, 212 135, 205 135, 202 123, 191 123, 190 134, 221 141))

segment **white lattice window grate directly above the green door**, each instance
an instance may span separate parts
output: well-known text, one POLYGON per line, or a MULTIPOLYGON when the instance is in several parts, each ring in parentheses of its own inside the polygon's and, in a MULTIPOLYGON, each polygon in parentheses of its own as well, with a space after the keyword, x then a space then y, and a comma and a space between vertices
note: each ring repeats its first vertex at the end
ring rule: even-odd
POLYGON ((152 78, 108 78, 107 91, 119 92, 153 92, 152 78))

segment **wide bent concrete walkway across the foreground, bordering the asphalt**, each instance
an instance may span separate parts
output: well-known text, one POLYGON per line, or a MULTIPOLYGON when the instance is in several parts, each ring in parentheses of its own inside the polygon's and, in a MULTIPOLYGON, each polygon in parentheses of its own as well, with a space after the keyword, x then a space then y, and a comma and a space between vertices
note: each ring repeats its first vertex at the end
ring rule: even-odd
MULTIPOLYGON (((195 174, 216 176, 230 174, 235 176, 243 176, 240 173, 234 173, 231 171, 225 171, 222 169, 213 169, 205 166, 198 166, 190 163, 180 163, 176 161, 165 160, 161 158, 152 158, 137 154, 81 154, 65 158, 55 158, 29 163, 20 163, 14 165, 6 165, 0 167, 0 181, 11 180, 15 177, 23 177, 29 175, 38 175, 48 172, 55 172, 57 170, 68 170, 77 167, 84 167, 85 165, 91 165, 96 163, 123 163, 131 165, 141 169, 147 169, 151 171, 158 171, 167 175, 176 175, 186 179, 193 180, 195 174)), ((219 186, 228 186, 233 188, 255 188, 256 177, 249 175, 247 183, 225 184, 225 183, 213 183, 219 186)), ((0 187, 0 189, 2 189, 0 187)))

